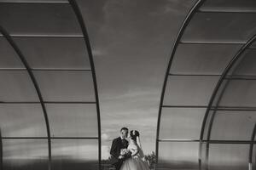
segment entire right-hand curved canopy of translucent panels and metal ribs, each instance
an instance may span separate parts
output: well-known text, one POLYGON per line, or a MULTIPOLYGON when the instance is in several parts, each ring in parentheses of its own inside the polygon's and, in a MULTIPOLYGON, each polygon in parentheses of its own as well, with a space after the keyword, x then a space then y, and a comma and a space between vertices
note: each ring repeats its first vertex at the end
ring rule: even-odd
POLYGON ((255 168, 255 19, 253 0, 191 8, 166 71, 157 169, 255 168))

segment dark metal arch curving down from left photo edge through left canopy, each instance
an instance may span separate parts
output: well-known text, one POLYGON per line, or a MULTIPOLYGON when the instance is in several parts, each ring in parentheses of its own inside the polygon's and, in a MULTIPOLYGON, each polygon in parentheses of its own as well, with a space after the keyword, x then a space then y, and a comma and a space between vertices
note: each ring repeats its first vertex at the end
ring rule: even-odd
POLYGON ((51 141, 50 141, 50 131, 49 131, 49 119, 48 119, 48 115, 47 115, 47 111, 44 105, 44 99, 43 96, 41 94, 40 88, 38 86, 38 82, 36 80, 36 78, 34 77, 34 74, 32 72, 31 67, 28 65, 26 58, 24 57, 24 55, 21 53, 20 48, 18 48, 18 46, 16 45, 15 41, 12 39, 12 37, 9 36, 8 31, 6 31, 3 26, 0 26, 0 32, 3 34, 3 37, 6 38, 6 40, 9 42, 9 44, 12 46, 12 48, 14 48, 16 54, 18 54, 21 62, 23 63, 23 65, 26 67, 26 71, 28 72, 29 77, 32 80, 32 83, 34 85, 34 88, 37 91, 38 94, 38 99, 40 100, 40 104, 42 106, 43 112, 44 112, 44 120, 45 120, 45 125, 46 125, 46 130, 47 130, 47 139, 48 139, 48 156, 49 156, 49 161, 48 161, 48 170, 51 169, 51 141))

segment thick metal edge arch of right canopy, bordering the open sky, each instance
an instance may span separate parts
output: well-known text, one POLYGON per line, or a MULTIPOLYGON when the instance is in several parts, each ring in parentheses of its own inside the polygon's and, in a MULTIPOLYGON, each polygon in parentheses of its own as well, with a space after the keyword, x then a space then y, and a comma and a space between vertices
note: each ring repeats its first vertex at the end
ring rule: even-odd
POLYGON ((205 0, 198 0, 193 5, 193 7, 190 8, 189 14, 187 14, 186 18, 183 20, 183 24, 182 24, 182 26, 180 27, 180 29, 177 33, 176 40, 175 40, 174 45, 172 47, 172 54, 171 54, 171 58, 169 60, 168 66, 167 66, 166 76, 165 76, 165 80, 164 80, 164 84, 163 84, 162 92, 161 92, 161 97, 160 97, 160 108, 159 108, 157 128, 156 128, 156 146, 155 146, 156 163, 158 162, 158 152, 159 152, 160 118, 161 118, 162 106, 163 106, 163 102, 164 102, 164 96, 165 96, 165 93, 166 93, 166 83, 167 83, 167 80, 168 80, 168 77, 169 77, 169 72, 170 72, 170 69, 171 69, 172 60, 174 58, 174 55, 176 54, 177 46, 178 46, 178 43, 180 42, 180 40, 183 36, 183 32, 185 31, 186 27, 189 25, 189 21, 192 19, 192 17, 196 13, 197 9, 200 8, 201 5, 204 2, 205 2, 205 0))

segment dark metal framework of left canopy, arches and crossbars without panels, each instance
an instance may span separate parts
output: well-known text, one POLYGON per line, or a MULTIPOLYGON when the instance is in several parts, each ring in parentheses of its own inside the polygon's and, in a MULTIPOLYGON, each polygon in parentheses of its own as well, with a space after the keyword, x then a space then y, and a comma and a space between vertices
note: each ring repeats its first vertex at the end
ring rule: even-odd
MULTIPOLYGON (((0 157, 1 157, 1 166, 3 166, 3 144, 2 144, 2 139, 48 139, 48 170, 52 169, 52 154, 51 154, 51 139, 97 139, 98 140, 98 167, 101 169, 101 157, 102 157, 102 147, 101 147, 101 116, 100 116, 100 105, 99 105, 99 97, 98 97, 98 90, 97 90, 97 83, 96 83, 96 70, 95 70, 95 65, 94 65, 94 60, 93 60, 93 54, 92 50, 90 47, 90 40, 88 36, 88 32, 86 30, 86 26, 84 24, 83 16, 80 12, 78 3, 75 0, 68 0, 68 1, 52 1, 52 2, 45 2, 45 1, 26 1, 26 0, 21 0, 20 2, 17 1, 6 1, 6 2, 0 2, 1 3, 36 3, 36 4, 69 4, 70 7, 73 9, 73 12, 76 16, 76 19, 79 21, 79 26, 81 28, 81 31, 83 33, 82 36, 76 35, 76 36, 69 36, 69 35, 13 35, 9 34, 8 31, 6 31, 3 26, 0 26, 0 32, 2 35, 0 37, 4 37, 6 40, 8 40, 9 44, 11 47, 15 50, 15 53, 18 54, 20 60, 22 61, 22 64, 25 66, 26 69, 0 69, 0 71, 27 71, 29 74, 30 79, 32 80, 33 86, 36 89, 36 92, 38 94, 38 99, 39 102, 15 102, 15 101, 9 101, 9 102, 4 102, 0 101, 0 104, 40 104, 42 106, 42 110, 44 112, 44 119, 45 119, 45 125, 46 125, 46 130, 47 130, 47 137, 2 137, 1 132, 0 132, 0 157), (13 37, 83 37, 84 39, 84 47, 87 50, 87 53, 89 55, 89 60, 90 60, 90 70, 89 69, 76 69, 76 70, 71 70, 71 69, 32 69, 32 67, 28 64, 26 61, 26 57, 22 54, 20 48, 17 46, 15 43, 15 40, 13 37), (66 101, 44 101, 43 96, 41 94, 40 88, 38 86, 38 82, 33 75, 32 71, 90 71, 91 72, 91 77, 93 80, 93 86, 94 86, 94 94, 95 94, 95 99, 96 101, 72 101, 72 102, 66 102, 66 101), (98 127, 98 136, 97 137, 51 137, 50 136, 50 128, 49 128, 49 118, 48 114, 45 108, 45 104, 94 104, 96 105, 96 114, 97 114, 97 127, 98 127)), ((3 169, 3 167, 0 167, 3 169)))

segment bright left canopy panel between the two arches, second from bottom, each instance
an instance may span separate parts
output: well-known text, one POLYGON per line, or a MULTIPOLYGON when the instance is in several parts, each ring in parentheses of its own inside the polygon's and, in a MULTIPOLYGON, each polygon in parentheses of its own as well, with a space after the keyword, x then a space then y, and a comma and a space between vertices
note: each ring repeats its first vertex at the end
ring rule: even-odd
POLYGON ((96 105, 47 104, 49 127, 55 137, 97 137, 96 105))

